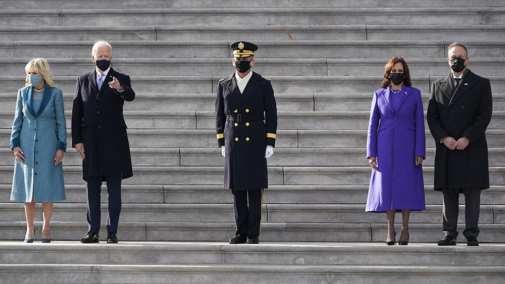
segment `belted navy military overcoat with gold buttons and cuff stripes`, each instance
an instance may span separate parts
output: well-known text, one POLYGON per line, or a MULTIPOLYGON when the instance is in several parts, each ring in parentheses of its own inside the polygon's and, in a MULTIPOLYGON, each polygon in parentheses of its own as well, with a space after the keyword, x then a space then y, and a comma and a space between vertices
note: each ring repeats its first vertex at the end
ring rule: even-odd
POLYGON ((226 151, 225 188, 240 191, 268 187, 265 148, 275 147, 276 131, 277 106, 270 80, 253 72, 243 93, 235 73, 219 82, 216 133, 218 146, 226 151))

